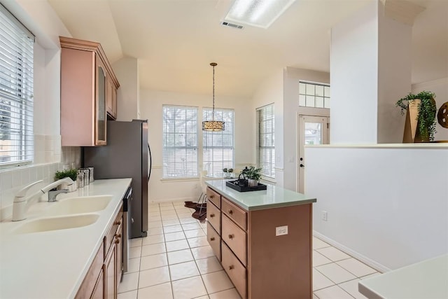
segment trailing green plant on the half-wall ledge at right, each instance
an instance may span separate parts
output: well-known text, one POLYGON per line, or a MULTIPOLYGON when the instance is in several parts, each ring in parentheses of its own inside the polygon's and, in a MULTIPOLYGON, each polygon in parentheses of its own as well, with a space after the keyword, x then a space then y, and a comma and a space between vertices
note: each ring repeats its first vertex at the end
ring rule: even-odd
MULTIPOLYGON (((434 97, 434 92, 423 90, 416 95, 409 93, 409 95, 402 97, 395 104, 395 106, 400 107, 401 115, 404 115, 405 110, 409 109, 409 107, 416 105, 417 124, 414 142, 428 142, 434 140, 436 125, 435 113, 437 110, 434 97)), ((411 109, 409 109, 409 111, 410 110, 411 109)))

